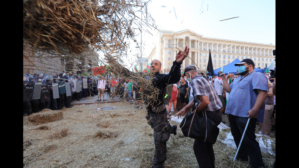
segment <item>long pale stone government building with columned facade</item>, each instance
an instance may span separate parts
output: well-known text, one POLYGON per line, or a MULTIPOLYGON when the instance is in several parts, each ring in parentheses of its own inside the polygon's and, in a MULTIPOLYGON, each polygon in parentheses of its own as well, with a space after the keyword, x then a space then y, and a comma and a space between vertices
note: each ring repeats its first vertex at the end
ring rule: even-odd
MULTIPOLYGON (((147 60, 158 59, 162 63, 160 73, 168 73, 172 62, 175 60, 179 49, 184 50, 185 46, 190 48, 189 57, 186 58, 181 69, 187 65, 197 65, 200 72, 205 73, 209 61, 209 50, 211 50, 213 68, 218 69, 228 65, 235 59, 252 59, 255 68, 264 69, 275 59, 273 50, 276 46, 271 44, 261 44, 245 41, 234 41, 219 38, 203 37, 189 29, 179 32, 169 30, 159 30, 155 37, 156 46, 149 53, 147 60)), ((275 67, 275 62, 274 62, 275 67)))

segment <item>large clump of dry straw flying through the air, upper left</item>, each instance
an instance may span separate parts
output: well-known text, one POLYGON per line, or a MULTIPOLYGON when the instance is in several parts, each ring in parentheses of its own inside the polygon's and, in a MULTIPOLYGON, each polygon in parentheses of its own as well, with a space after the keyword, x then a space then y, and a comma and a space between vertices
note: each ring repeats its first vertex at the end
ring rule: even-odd
POLYGON ((32 51, 81 54, 88 47, 123 50, 139 0, 24 0, 23 44, 32 51))

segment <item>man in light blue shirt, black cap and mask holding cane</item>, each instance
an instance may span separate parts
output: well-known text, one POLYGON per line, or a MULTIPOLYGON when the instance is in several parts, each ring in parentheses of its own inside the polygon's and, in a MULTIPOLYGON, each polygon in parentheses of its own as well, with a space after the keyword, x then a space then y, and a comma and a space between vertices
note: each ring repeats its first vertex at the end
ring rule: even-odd
POLYGON ((251 59, 243 59, 235 66, 239 66, 238 78, 231 84, 228 84, 225 74, 222 73, 221 78, 225 91, 229 93, 225 113, 229 114, 231 132, 237 147, 250 118, 236 159, 248 161, 249 156, 251 167, 265 167, 254 132, 257 120, 263 122, 268 80, 263 73, 254 71, 251 59))

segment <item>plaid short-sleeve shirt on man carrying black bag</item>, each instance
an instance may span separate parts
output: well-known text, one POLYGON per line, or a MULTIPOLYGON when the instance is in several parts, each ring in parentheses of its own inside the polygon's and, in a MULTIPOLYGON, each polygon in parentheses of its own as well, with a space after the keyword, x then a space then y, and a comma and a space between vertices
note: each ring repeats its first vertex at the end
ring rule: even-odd
POLYGON ((194 105, 197 107, 200 103, 198 95, 207 96, 209 99, 209 105, 207 105, 206 111, 216 111, 221 109, 222 102, 213 88, 213 86, 204 78, 199 75, 195 75, 191 81, 193 89, 194 105))

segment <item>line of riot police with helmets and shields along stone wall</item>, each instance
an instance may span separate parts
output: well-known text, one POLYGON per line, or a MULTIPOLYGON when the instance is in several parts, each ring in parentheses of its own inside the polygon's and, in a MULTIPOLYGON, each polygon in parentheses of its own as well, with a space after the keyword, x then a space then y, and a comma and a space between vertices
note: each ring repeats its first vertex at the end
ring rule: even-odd
POLYGON ((23 74, 23 116, 42 109, 71 108, 71 101, 98 95, 96 81, 99 77, 69 74, 56 73, 54 77, 41 73, 23 74))

